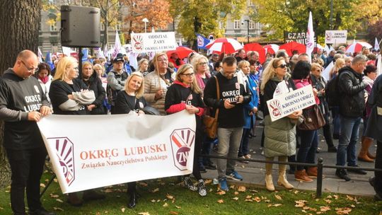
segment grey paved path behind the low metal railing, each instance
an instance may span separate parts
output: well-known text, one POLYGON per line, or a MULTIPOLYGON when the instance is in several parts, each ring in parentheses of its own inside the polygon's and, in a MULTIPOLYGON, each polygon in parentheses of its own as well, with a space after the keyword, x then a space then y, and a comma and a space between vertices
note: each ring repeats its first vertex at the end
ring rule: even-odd
MULTIPOLYGON (((361 132, 362 128, 360 129, 361 132)), ((263 160, 264 156, 261 155, 260 148, 260 138, 261 138, 262 127, 257 126, 255 129, 256 137, 250 139, 250 153, 252 158, 263 160)), ((319 153, 316 153, 317 158, 323 158, 323 164, 325 165, 335 165, 336 163, 336 153, 327 152, 327 146, 325 143, 325 139, 323 138, 322 132, 319 134, 319 144, 318 147, 321 149, 319 153)), ((337 146, 338 141, 335 140, 335 146, 337 146)), ((357 153, 359 152, 361 144, 357 144, 357 153)), ((371 150, 376 151, 376 145, 371 146, 371 150)), ((214 159, 213 159, 214 161, 214 159)), ((366 163, 362 161, 357 161, 358 165, 365 168, 374 168, 374 163, 366 163)), ((215 162, 216 163, 216 162, 215 162)), ((265 163, 241 163, 237 161, 238 173, 243 175, 243 183, 245 185, 249 185, 251 187, 263 187, 265 188, 265 163)), ((361 196, 374 196, 375 192, 373 187, 369 185, 369 178, 374 176, 374 172, 368 172, 367 175, 357 175, 354 173, 348 173, 349 177, 352 178, 349 182, 337 178, 335 175, 335 169, 332 168, 324 168, 323 174, 325 178, 323 178, 323 192, 337 192, 342 194, 354 194, 361 196)), ((282 187, 277 186, 277 164, 274 164, 273 167, 273 182, 276 190, 282 189, 282 187)), ((207 170, 207 173, 203 173, 202 177, 204 178, 217 178, 216 170, 207 170)), ((317 180, 315 179, 313 182, 299 182, 294 180, 294 175, 287 174, 287 178, 289 182, 296 189, 299 190, 313 190, 316 191, 317 180)), ((236 181, 228 180, 229 183, 235 183, 236 181)))

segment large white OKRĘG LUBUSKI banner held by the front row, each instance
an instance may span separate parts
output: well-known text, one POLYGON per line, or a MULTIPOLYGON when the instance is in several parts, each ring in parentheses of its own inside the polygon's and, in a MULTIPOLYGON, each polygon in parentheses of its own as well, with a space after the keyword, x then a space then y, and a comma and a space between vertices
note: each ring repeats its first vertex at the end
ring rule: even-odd
POLYGON ((51 115, 37 123, 63 193, 192 173, 195 115, 51 115))

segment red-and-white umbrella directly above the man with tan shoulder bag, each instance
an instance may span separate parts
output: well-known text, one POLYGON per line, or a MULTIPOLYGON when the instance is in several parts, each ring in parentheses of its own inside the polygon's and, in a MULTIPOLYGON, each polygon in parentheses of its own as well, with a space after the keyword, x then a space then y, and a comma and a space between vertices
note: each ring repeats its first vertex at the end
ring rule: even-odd
POLYGON ((207 49, 216 52, 224 52, 226 54, 232 54, 242 49, 243 46, 237 40, 232 38, 221 37, 217 38, 213 42, 206 45, 207 49))

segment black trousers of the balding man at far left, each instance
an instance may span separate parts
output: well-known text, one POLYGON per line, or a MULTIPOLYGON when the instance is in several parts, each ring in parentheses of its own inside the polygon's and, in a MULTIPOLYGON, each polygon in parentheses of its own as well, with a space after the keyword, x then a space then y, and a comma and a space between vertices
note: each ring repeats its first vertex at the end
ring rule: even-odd
POLYGON ((27 150, 6 149, 11 165, 11 208, 15 215, 25 214, 24 193, 30 211, 40 209, 40 179, 47 150, 45 147, 27 150))

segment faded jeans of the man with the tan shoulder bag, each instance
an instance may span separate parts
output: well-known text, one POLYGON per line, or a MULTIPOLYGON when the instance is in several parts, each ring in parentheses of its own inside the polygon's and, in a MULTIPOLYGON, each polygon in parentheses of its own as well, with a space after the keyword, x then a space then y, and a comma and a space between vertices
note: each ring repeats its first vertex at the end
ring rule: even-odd
MULTIPOLYGON (((238 147, 240 146, 243 127, 236 128, 218 128, 218 151, 217 156, 228 156, 228 158, 237 158, 238 147)), ((235 170, 236 160, 217 159, 217 171, 219 179, 226 178, 226 172, 235 170)))

